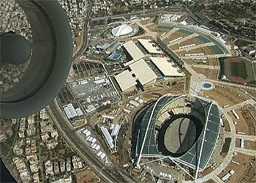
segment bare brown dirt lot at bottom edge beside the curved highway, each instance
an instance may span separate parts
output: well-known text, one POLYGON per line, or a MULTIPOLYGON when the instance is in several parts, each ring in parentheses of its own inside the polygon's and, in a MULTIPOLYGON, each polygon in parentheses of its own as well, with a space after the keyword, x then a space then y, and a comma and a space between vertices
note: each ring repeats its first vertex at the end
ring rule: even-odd
POLYGON ((91 169, 87 169, 82 172, 78 172, 76 174, 77 177, 77 183, 96 183, 100 182, 100 179, 98 176, 96 176, 95 172, 93 172, 91 169))

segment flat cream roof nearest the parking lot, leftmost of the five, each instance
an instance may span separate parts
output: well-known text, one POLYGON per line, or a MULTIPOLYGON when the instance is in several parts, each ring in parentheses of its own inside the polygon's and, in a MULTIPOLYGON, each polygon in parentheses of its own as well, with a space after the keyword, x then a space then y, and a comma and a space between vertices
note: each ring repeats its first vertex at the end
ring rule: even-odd
POLYGON ((132 73, 129 70, 124 70, 120 74, 114 77, 121 88, 122 91, 125 91, 131 87, 134 87, 137 82, 135 81, 134 77, 132 77, 132 73))

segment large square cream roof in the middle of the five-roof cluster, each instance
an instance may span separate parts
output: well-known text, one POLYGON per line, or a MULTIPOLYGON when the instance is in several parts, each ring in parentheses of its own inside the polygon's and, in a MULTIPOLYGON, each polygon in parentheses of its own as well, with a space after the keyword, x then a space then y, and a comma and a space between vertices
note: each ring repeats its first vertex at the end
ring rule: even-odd
POLYGON ((157 75, 153 70, 148 66, 148 64, 143 60, 137 61, 133 64, 129 65, 131 72, 135 74, 136 78, 139 79, 139 82, 142 85, 151 82, 152 80, 157 78, 157 75))

